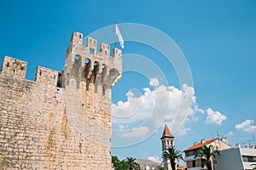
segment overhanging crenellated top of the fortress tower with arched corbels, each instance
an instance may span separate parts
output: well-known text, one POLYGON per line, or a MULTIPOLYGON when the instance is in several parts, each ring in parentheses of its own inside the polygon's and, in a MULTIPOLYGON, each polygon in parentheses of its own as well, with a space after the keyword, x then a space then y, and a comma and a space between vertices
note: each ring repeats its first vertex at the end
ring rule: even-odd
POLYGON ((65 88, 69 81, 74 79, 77 88, 80 82, 87 82, 87 85, 93 83, 96 93, 99 90, 105 94, 105 91, 114 86, 121 77, 122 52, 118 48, 113 48, 113 56, 110 56, 110 47, 105 43, 101 43, 98 52, 96 39, 91 37, 87 37, 86 46, 82 42, 83 34, 74 32, 67 48, 61 87, 65 88))

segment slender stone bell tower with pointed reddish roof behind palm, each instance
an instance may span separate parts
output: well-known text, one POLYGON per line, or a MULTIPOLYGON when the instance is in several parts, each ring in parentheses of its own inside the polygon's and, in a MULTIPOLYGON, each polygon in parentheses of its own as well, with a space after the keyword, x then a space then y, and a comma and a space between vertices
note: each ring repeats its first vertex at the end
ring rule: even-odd
MULTIPOLYGON (((164 153, 167 148, 174 147, 174 136, 172 135, 172 133, 167 125, 165 125, 164 132, 160 139, 162 141, 162 153, 164 153)), ((170 160, 164 162, 164 169, 172 170, 170 160)))

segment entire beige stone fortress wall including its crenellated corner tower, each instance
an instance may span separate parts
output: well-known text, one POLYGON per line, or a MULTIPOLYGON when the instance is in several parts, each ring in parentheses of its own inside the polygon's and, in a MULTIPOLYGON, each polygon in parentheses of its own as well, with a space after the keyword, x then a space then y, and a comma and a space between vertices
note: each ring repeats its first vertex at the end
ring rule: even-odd
POLYGON ((5 56, 0 73, 1 169, 111 170, 111 87, 122 72, 121 51, 74 32, 64 70, 5 56))

